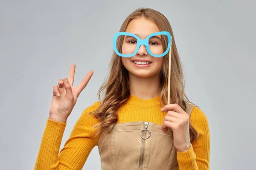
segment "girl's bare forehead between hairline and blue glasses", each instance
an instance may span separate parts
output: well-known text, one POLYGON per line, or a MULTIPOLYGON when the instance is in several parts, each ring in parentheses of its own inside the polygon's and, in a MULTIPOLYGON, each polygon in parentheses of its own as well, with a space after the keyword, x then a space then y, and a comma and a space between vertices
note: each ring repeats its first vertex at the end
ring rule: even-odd
POLYGON ((149 34, 159 31, 158 26, 153 21, 144 17, 131 20, 125 30, 125 32, 137 34, 141 39, 145 39, 149 34))

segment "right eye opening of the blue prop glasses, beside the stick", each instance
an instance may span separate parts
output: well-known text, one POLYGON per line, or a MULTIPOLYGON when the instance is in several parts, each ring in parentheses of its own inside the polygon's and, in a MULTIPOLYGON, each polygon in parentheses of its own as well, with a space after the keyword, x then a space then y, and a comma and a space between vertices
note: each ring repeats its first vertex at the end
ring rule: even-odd
POLYGON ((167 35, 155 35, 148 40, 148 47, 152 54, 160 55, 166 52, 168 47, 167 35))

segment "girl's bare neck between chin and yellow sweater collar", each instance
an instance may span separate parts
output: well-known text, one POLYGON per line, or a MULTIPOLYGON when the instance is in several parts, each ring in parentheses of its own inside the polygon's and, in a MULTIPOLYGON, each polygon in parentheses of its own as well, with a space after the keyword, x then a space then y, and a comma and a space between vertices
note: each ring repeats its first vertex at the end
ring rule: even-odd
POLYGON ((137 77, 129 73, 129 86, 132 95, 140 99, 152 99, 160 95, 159 79, 152 77, 137 77))

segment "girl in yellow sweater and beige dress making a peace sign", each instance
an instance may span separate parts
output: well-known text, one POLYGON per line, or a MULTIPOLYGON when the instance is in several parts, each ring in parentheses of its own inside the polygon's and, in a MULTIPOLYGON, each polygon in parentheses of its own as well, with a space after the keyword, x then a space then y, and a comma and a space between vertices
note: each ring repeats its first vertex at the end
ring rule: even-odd
POLYGON ((84 109, 61 150, 67 118, 93 71, 73 87, 76 65, 72 64, 68 78, 58 79, 53 86, 35 170, 81 170, 96 145, 102 170, 209 170, 207 117, 184 92, 169 21, 158 11, 140 8, 125 19, 119 33, 123 35, 113 41, 117 51, 113 52, 109 77, 98 91, 99 101, 84 109), (172 36, 171 44, 161 34, 150 37, 148 45, 139 44, 161 31, 172 36), (169 51, 156 57, 164 54, 168 45, 172 52, 170 104, 169 51), (122 57, 125 54, 133 55, 122 57))

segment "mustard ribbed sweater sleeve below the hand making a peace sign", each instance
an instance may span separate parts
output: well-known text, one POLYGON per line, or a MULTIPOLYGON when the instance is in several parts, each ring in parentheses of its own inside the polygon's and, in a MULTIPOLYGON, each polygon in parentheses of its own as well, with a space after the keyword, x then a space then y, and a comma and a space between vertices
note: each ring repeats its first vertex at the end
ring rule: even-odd
POLYGON ((56 122, 47 119, 47 124, 41 140, 38 156, 35 162, 35 170, 81 170, 98 138, 94 138, 92 126, 97 122, 87 113, 95 110, 98 103, 84 109, 69 139, 61 149, 61 139, 67 123, 56 122))

